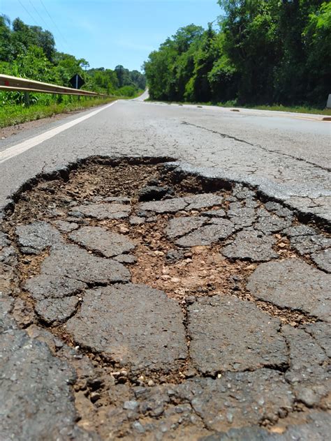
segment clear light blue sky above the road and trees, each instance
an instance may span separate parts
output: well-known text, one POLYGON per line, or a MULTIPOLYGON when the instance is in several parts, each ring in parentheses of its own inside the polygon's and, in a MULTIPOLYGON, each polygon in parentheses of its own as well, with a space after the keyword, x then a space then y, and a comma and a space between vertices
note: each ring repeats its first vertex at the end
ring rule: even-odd
POLYGON ((206 27, 221 8, 216 0, 0 0, 0 13, 48 29, 57 50, 91 67, 140 70, 179 27, 206 27))

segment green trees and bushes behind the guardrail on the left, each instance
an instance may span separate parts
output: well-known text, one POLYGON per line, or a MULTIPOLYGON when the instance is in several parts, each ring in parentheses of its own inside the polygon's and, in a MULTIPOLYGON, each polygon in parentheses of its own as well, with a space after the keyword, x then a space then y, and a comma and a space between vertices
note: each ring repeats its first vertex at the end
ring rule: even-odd
POLYGON ((134 96, 146 86, 138 70, 123 66, 89 69, 85 59, 58 52, 50 31, 29 26, 20 18, 11 23, 4 15, 0 15, 0 72, 67 87, 79 73, 85 81, 83 89, 117 96, 134 96))

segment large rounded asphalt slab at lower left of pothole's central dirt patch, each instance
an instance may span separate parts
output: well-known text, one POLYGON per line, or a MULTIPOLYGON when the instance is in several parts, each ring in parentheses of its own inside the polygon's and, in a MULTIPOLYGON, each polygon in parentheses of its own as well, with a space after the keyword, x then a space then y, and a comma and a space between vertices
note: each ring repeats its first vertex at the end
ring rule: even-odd
POLYGON ((75 341, 133 371, 175 371, 186 358, 184 316, 177 301, 145 285, 89 290, 67 322, 75 341))

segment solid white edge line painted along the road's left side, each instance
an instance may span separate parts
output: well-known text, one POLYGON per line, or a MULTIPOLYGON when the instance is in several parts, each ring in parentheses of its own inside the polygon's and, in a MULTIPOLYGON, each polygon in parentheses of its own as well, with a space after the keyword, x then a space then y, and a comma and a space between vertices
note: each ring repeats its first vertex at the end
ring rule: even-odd
POLYGON ((30 140, 26 140, 24 142, 20 142, 20 144, 16 144, 12 147, 8 147, 8 149, 0 152, 0 164, 4 163, 6 160, 10 158, 14 158, 17 155, 20 155, 24 151, 27 151, 29 149, 32 149, 32 147, 36 147, 36 145, 41 144, 42 142, 49 140, 51 137, 58 135, 59 133, 63 132, 64 130, 67 130, 67 128, 71 128, 75 126, 76 124, 80 124, 85 119, 94 117, 94 115, 98 114, 99 112, 102 112, 103 110, 107 109, 108 107, 116 104, 117 101, 114 101, 114 103, 110 103, 108 105, 105 105, 101 107, 101 109, 94 110, 94 112, 91 112, 87 115, 84 115, 84 117, 80 117, 77 119, 74 119, 73 121, 70 121, 68 123, 62 124, 59 127, 52 128, 51 130, 47 130, 47 132, 42 133, 41 135, 37 135, 30 140))

